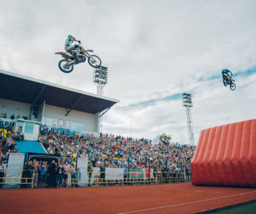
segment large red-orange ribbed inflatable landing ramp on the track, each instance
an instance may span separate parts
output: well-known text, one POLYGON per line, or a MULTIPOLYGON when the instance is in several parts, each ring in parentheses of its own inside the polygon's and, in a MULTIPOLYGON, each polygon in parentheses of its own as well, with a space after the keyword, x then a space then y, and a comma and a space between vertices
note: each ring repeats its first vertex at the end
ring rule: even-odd
POLYGON ((191 171, 194 185, 256 186, 256 119, 201 131, 191 171))

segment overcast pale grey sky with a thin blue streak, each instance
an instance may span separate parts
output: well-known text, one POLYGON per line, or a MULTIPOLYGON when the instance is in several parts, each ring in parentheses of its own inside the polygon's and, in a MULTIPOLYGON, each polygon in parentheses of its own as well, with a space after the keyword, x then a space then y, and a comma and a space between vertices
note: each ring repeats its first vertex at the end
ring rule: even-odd
POLYGON ((87 62, 58 68, 67 35, 108 65, 104 96, 120 100, 103 132, 188 143, 181 93, 200 131, 256 118, 255 0, 0 0, 0 69, 97 93, 87 62), (234 74, 236 90, 222 83, 234 74))

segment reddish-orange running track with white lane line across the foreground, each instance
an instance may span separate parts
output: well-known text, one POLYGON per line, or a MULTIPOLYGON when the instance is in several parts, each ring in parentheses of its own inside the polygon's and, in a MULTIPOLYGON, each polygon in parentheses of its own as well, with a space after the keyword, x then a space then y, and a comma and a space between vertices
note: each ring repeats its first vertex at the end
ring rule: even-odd
POLYGON ((170 183, 66 189, 1 189, 0 195, 0 213, 188 214, 256 200, 256 189, 170 183))

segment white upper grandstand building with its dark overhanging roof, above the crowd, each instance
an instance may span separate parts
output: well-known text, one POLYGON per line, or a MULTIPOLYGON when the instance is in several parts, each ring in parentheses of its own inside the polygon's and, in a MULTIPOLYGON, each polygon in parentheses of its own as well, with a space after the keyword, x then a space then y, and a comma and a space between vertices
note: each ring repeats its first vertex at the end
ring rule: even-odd
POLYGON ((69 134, 98 136, 100 116, 119 102, 3 70, 0 79, 0 114, 7 114, 0 125, 13 123, 27 140, 37 140, 40 124, 69 134))

